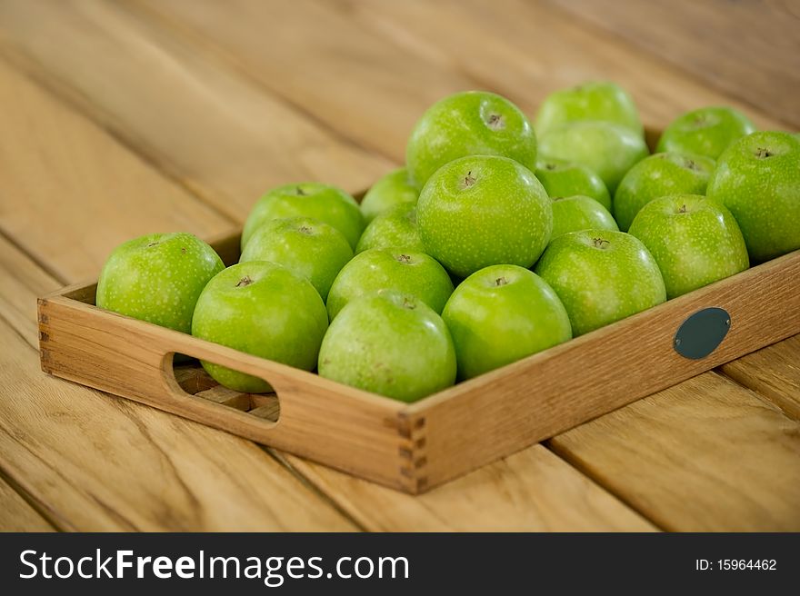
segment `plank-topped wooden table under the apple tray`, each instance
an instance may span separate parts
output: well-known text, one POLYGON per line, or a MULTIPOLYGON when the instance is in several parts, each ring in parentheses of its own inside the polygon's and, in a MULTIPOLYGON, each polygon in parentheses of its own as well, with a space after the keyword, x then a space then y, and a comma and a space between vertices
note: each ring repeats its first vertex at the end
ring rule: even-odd
MULTIPOLYGON (((35 297, 135 235, 356 191, 435 99, 610 78, 800 126, 800 10, 714 0, 0 3, 0 529, 800 530, 800 336, 411 497, 46 376, 35 297), (663 5, 659 5, 663 4, 663 5)), ((121 357, 124 357, 121 355, 121 357)))

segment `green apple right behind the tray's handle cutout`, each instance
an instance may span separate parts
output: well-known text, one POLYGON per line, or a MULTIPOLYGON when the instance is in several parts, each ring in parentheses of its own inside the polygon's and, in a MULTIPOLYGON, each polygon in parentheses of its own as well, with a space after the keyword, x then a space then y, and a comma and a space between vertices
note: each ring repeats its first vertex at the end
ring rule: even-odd
MULTIPOLYGON (((283 265, 265 261, 217 273, 200 294, 192 320, 195 337, 305 371, 314 369, 327 327, 325 304, 314 286, 283 265)), ((263 379, 202 364, 216 382, 235 391, 271 391, 263 379)))

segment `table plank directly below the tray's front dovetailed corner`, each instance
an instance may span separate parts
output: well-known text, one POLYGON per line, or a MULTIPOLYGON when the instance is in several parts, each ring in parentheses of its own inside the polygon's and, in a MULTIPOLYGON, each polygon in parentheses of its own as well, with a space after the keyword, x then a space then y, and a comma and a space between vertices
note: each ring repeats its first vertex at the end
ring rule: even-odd
POLYGON ((542 445, 411 496, 286 456, 374 531, 655 531, 615 496, 542 445))

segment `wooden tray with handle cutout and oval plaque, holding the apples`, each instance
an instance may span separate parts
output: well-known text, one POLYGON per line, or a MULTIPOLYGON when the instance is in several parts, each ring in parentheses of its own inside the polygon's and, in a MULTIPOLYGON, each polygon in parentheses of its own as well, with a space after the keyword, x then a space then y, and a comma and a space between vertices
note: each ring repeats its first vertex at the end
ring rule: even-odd
MULTIPOLYGON (((236 263, 238 234, 211 243, 236 263)), ((146 403, 418 493, 800 333, 800 251, 405 404, 185 333, 95 307, 96 283, 38 301, 45 373, 146 403), (675 352, 692 313, 719 307, 730 329, 710 355, 675 352), (216 385, 198 363, 264 378, 276 395, 216 385)))

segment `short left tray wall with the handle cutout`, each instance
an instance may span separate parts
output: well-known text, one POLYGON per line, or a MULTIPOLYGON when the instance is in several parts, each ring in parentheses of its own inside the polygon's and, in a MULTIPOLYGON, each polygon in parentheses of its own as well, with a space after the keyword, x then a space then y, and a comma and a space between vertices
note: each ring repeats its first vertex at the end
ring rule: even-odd
MULTIPOLYGON (((75 292, 75 289, 70 289, 75 292)), ((115 393, 166 412, 275 446, 405 492, 411 445, 404 404, 359 392, 313 373, 109 313, 65 296, 39 301, 45 373, 115 393), (185 353, 255 374, 280 401, 278 422, 185 393, 172 353, 185 353)))

